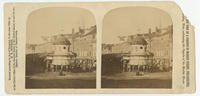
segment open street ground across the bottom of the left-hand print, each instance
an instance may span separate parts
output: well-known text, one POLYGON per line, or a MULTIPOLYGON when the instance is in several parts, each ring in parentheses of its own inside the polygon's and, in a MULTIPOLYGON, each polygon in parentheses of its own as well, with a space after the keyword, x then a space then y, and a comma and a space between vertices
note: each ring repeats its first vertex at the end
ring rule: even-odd
POLYGON ((26 89, 34 88, 96 88, 96 73, 40 73, 26 77, 26 89))

